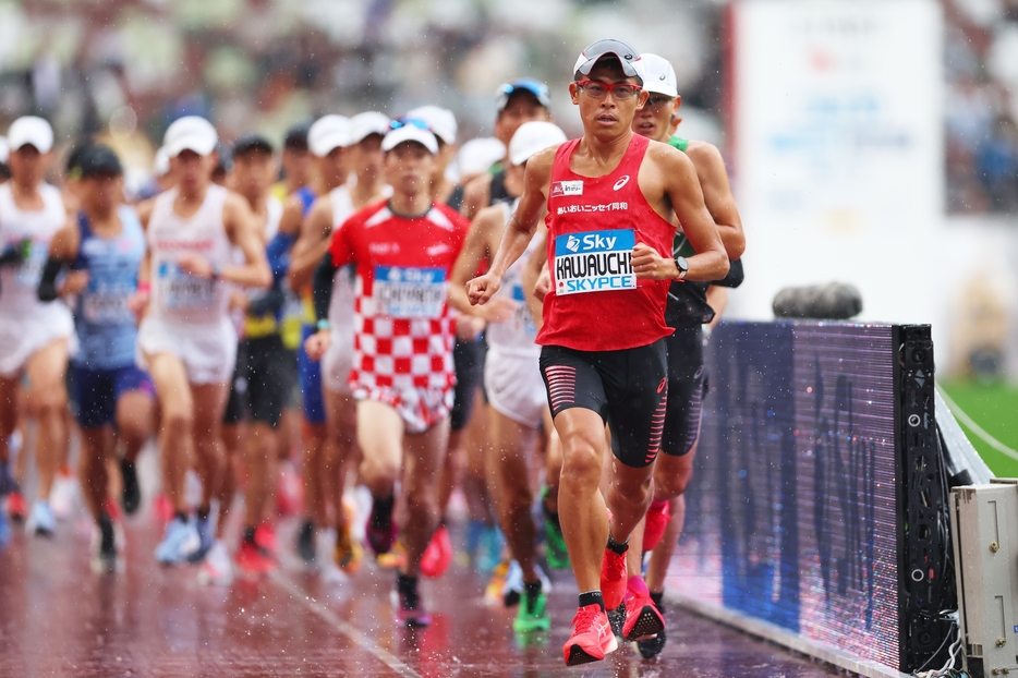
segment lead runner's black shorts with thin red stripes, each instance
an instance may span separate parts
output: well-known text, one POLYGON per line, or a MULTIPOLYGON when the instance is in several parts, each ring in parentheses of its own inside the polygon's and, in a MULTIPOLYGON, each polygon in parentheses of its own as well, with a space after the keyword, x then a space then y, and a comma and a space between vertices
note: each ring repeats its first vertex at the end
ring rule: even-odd
POLYGON ((621 463, 640 469, 657 458, 668 401, 664 339, 622 351, 546 346, 541 374, 553 416, 593 410, 611 428, 611 451, 621 463))

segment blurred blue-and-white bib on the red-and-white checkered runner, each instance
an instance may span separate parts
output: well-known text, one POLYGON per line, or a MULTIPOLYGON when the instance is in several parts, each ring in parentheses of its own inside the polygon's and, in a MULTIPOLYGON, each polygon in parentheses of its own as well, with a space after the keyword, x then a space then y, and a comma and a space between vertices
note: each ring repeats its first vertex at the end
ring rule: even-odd
POLYGON ((373 295, 379 313, 397 318, 437 318, 446 305, 441 268, 376 266, 373 295))

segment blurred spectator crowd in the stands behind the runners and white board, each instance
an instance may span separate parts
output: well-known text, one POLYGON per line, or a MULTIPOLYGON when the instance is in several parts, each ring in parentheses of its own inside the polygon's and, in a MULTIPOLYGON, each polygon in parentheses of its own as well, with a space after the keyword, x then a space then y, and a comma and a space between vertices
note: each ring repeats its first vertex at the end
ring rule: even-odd
MULTIPOLYGON (((1018 213, 1018 0, 940 0, 946 35, 948 211, 1018 213)), ((324 112, 421 104, 487 133, 495 88, 565 83, 607 34, 676 65, 684 132, 723 142, 724 0, 23 0, 0 3, 0 125, 49 118, 64 141, 107 131, 130 166, 182 114, 232 138, 282 140, 324 112)), ((575 131, 574 129, 571 131, 575 131)))

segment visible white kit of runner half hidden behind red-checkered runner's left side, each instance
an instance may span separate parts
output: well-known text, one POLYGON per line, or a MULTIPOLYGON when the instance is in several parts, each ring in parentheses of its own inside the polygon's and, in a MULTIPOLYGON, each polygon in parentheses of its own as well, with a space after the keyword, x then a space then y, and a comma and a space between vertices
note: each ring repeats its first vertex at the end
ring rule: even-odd
MULTIPOLYGON (((392 194, 390 186, 385 186, 383 195, 392 194)), ((356 211, 353 198, 350 196, 350 185, 343 184, 329 192, 329 202, 332 204, 332 232, 356 211)), ((332 342, 322 359, 322 382, 334 394, 350 392, 350 368, 353 366, 353 301, 356 296, 354 288, 353 265, 343 266, 336 271, 332 278, 332 299, 329 303, 329 327, 332 342)))

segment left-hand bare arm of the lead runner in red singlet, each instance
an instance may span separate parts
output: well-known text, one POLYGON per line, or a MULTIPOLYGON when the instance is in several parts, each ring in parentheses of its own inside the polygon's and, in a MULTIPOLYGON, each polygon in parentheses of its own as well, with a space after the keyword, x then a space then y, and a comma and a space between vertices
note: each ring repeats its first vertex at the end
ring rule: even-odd
POLYGON ((523 175, 523 195, 516 211, 509 218, 502 233, 498 251, 487 274, 470 281, 466 294, 472 304, 486 303, 501 286, 501 278, 534 237, 541 215, 547 204, 548 183, 552 179, 552 165, 558 146, 546 148, 526 161, 523 175))

